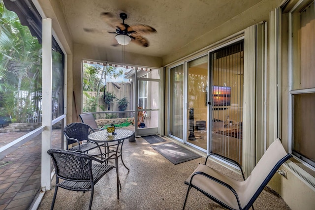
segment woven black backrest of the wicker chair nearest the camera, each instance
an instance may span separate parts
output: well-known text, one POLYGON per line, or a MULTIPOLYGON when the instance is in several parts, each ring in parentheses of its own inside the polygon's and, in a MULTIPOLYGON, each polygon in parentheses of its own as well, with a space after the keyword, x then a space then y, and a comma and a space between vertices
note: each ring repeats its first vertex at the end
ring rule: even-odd
POLYGON ((93 180, 92 158, 88 154, 69 150, 48 150, 56 176, 63 180, 93 180))

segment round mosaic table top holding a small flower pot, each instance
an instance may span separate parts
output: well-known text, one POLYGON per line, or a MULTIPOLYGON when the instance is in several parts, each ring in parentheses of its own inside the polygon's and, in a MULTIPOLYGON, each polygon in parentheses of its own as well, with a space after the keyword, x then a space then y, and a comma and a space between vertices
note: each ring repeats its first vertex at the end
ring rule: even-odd
POLYGON ((91 133, 88 136, 88 139, 94 142, 114 142, 128 139, 134 133, 133 131, 126 129, 117 129, 115 132, 117 134, 113 135, 112 133, 108 133, 107 130, 97 131, 95 133, 91 133))

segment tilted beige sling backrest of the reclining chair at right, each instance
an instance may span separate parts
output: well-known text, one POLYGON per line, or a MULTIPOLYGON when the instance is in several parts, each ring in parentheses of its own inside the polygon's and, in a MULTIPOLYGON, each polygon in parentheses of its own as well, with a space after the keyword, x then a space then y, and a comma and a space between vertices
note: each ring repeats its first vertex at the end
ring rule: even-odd
POLYGON ((247 188, 241 204, 251 207, 279 167, 290 157, 292 155, 284 150, 280 139, 274 141, 258 161, 251 175, 244 181, 247 188))

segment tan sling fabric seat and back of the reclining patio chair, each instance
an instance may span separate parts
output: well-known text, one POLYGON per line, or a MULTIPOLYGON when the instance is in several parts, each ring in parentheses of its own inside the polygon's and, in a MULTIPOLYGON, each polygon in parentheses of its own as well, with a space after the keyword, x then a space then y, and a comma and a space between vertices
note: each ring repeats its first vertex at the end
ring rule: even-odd
MULTIPOLYGON (((280 160, 282 160, 285 156, 287 156, 287 153, 284 150, 280 139, 277 139, 269 146, 268 150, 266 150, 264 155, 261 157, 257 165, 252 170, 251 175, 245 181, 233 180, 232 178, 203 164, 199 164, 199 166, 193 173, 204 172, 218 180, 229 184, 238 194, 241 208, 243 209, 245 205, 247 205, 252 199, 258 188, 263 184, 264 180, 266 180, 268 175, 273 171, 274 167, 276 167, 280 160)), ((285 159, 283 161, 285 161, 285 159)), ((281 162, 281 164, 282 163, 283 162, 281 162)), ((271 173, 271 176, 273 176, 274 173, 275 171, 271 173)), ((189 184, 190 178, 191 175, 185 181, 186 184, 189 184)), ((203 175, 196 175, 192 180, 192 185, 205 194, 208 194, 218 199, 225 205, 233 209, 239 209, 234 194, 221 184, 209 180, 203 175)))

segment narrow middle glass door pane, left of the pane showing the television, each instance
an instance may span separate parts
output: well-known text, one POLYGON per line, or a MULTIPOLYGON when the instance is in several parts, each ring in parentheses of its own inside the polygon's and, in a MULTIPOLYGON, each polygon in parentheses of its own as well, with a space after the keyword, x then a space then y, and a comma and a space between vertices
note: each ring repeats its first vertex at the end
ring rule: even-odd
POLYGON ((188 62, 187 139, 186 142, 207 150, 208 56, 188 62))

